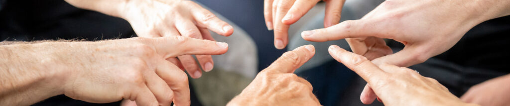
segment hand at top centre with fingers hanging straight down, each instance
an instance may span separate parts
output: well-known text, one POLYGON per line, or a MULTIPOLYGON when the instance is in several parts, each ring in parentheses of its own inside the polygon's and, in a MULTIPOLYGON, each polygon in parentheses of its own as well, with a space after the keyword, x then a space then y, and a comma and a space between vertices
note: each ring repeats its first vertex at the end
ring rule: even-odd
MULTIPOLYGON (((264 0, 264 18, 268 30, 274 28, 274 47, 283 49, 288 44, 289 25, 295 23, 320 0, 264 0)), ((324 27, 337 24, 345 0, 324 0, 326 13, 324 27)))

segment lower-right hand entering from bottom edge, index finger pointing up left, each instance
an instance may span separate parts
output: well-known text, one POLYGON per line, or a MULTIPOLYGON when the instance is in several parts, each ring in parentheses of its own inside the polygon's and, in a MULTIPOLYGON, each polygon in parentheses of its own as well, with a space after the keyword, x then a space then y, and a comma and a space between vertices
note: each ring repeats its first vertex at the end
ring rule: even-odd
POLYGON ((329 54, 367 81, 385 105, 467 105, 438 81, 415 70, 389 64, 377 66, 337 45, 329 46, 329 54))

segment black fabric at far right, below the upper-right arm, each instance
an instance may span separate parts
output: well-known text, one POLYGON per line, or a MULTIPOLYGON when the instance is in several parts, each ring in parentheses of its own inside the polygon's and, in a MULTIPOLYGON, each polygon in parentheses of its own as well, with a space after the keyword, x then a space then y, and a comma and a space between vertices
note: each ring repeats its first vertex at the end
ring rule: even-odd
MULTIPOLYGON (((425 63, 411 66, 420 74, 436 78, 456 96, 473 85, 510 73, 510 16, 488 20, 468 31, 457 44, 425 63)), ((388 45, 401 49, 392 41, 388 45)), ((396 51, 396 50, 394 50, 396 51)))

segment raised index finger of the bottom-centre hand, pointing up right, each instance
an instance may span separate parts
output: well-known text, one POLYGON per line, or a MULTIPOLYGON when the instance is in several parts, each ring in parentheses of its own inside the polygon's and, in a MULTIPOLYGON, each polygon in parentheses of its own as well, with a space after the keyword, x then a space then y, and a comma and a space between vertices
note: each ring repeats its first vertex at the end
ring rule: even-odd
POLYGON ((269 67, 263 71, 273 73, 293 73, 294 70, 310 60, 315 54, 313 45, 304 45, 297 47, 292 51, 287 51, 274 61, 269 67))

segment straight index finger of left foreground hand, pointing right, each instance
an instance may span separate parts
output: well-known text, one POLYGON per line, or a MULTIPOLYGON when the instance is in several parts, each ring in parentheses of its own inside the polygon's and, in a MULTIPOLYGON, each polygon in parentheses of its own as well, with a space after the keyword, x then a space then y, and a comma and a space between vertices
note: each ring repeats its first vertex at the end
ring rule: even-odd
POLYGON ((155 38, 151 42, 164 59, 181 55, 221 55, 228 50, 228 44, 184 36, 155 38))

